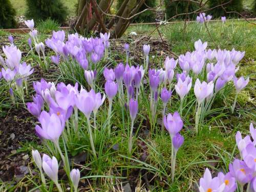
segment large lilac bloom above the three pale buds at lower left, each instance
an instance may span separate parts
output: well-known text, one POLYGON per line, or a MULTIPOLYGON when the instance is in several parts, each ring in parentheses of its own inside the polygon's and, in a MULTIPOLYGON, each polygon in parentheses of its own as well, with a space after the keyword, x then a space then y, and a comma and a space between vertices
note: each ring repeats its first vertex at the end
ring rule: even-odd
POLYGON ((50 115, 46 111, 42 111, 38 120, 41 127, 35 126, 36 133, 44 139, 57 142, 65 126, 63 119, 60 119, 56 114, 50 115))

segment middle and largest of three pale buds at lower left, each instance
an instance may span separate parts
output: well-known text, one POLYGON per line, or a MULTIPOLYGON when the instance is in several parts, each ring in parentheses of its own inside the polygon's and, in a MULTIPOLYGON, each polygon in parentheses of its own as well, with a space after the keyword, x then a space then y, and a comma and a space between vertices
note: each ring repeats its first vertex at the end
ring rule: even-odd
POLYGON ((44 154, 42 156, 42 168, 44 169, 46 175, 53 180, 55 183, 58 182, 58 161, 53 156, 52 159, 44 154))

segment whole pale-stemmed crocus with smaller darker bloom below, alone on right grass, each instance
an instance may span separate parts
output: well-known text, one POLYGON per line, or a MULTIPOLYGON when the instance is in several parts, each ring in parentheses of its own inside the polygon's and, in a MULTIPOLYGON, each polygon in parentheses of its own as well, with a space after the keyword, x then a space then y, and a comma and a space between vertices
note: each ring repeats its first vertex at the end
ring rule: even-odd
POLYGON ((176 154, 180 146, 182 145, 184 138, 179 134, 183 127, 183 121, 178 112, 175 112, 173 115, 168 114, 167 117, 163 118, 164 126, 170 134, 170 139, 172 141, 172 181, 174 181, 175 174, 175 162, 176 154))

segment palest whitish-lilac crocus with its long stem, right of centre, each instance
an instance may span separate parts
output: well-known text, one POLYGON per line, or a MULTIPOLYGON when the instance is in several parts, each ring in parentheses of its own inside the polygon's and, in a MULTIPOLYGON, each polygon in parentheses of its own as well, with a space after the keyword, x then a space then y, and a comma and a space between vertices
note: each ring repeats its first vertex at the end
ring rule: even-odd
POLYGON ((202 83, 200 82, 199 79, 196 80, 195 87, 194 87, 194 92, 197 97, 197 112, 196 112, 196 122, 195 122, 195 129, 196 133, 198 134, 198 124, 199 124, 199 119, 201 116, 201 104, 203 103, 204 99, 208 97, 209 95, 212 94, 214 91, 214 83, 210 81, 208 84, 203 81, 202 83))

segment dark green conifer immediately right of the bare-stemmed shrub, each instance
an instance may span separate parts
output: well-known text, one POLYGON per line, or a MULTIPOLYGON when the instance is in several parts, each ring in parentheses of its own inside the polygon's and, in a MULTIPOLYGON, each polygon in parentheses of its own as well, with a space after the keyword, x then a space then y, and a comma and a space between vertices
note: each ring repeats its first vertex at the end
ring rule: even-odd
MULTIPOLYGON (((177 1, 172 2, 170 0, 164 0, 165 13, 167 18, 171 18, 177 14, 190 13, 199 9, 199 4, 189 1, 177 1)), ((195 14, 188 14, 187 17, 193 18, 195 14)), ((186 15, 180 15, 176 18, 186 18, 186 15)))

